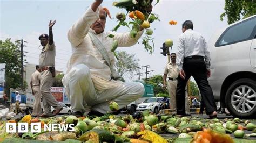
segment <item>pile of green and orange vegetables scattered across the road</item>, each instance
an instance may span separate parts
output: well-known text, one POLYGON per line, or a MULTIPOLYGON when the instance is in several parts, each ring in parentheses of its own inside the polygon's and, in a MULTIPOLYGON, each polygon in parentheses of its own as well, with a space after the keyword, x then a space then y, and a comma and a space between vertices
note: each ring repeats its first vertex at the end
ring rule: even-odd
MULTIPOLYGON (((111 106, 115 105, 111 102, 111 106)), ((116 108, 116 107, 115 107, 116 108)), ((116 109, 114 109, 116 110, 116 109)), ((51 118, 32 118, 26 115, 21 119, 0 122, 0 142, 236 142, 246 137, 256 137, 256 125, 249 120, 234 119, 200 119, 192 117, 175 117, 154 115, 143 111, 141 116, 132 115, 117 117, 107 113, 102 117, 62 116, 51 118), (36 123, 40 122, 42 130, 39 133, 6 133, 5 122, 36 123), (74 124, 73 131, 46 132, 44 124, 74 124), (245 134, 244 130, 252 131, 245 134), (176 138, 163 138, 159 134, 177 134, 176 138), (234 139, 231 135, 234 135, 234 139)), ((250 140, 243 139, 242 142, 250 140)))

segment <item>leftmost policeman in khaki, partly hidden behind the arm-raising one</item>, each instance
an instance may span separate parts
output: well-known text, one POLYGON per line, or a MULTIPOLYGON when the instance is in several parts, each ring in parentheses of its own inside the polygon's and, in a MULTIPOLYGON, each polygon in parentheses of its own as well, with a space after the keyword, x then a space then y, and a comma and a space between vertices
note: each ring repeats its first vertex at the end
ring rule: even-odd
POLYGON ((41 74, 38 71, 39 65, 36 65, 36 71, 31 75, 30 86, 32 89, 32 94, 35 96, 35 102, 33 105, 32 116, 41 115, 41 92, 40 92, 40 80, 41 74))

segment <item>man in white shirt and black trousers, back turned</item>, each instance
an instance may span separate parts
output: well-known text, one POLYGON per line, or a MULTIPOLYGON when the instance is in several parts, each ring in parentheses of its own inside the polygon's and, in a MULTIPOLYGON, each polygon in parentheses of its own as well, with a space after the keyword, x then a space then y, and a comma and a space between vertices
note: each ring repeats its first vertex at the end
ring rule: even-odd
POLYGON ((185 87, 188 79, 193 76, 205 103, 206 114, 210 118, 216 117, 213 92, 207 81, 211 75, 211 59, 206 41, 200 33, 193 31, 191 20, 186 20, 183 23, 182 32, 183 34, 178 39, 177 53, 179 67, 176 91, 177 116, 185 116, 185 87))

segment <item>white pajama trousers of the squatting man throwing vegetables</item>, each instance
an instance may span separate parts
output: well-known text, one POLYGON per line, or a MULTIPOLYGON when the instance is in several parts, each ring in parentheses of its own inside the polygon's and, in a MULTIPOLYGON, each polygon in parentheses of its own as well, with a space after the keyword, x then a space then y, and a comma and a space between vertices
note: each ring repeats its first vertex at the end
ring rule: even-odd
POLYGON ((67 76, 69 82, 64 86, 73 112, 89 113, 91 110, 100 113, 111 112, 110 101, 117 102, 121 109, 140 98, 145 91, 142 83, 124 82, 118 87, 97 94, 91 80, 90 69, 84 64, 72 67, 67 76))

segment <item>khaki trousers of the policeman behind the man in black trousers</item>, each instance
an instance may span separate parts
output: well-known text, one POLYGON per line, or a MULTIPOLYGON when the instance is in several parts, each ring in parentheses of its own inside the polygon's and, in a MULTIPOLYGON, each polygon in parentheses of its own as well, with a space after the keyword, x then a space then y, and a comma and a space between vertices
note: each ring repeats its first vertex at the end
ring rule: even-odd
MULTIPOLYGON (((168 88, 168 92, 169 92, 169 96, 170 96, 170 109, 171 109, 171 112, 176 114, 177 81, 169 80, 167 88, 168 88)), ((185 98, 185 109, 186 109, 186 113, 190 114, 190 105, 189 105, 189 101, 188 101, 188 96, 187 95, 186 95, 186 98, 185 98)))

